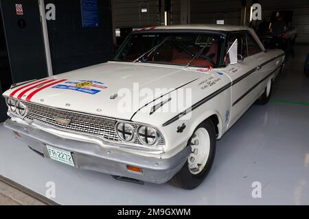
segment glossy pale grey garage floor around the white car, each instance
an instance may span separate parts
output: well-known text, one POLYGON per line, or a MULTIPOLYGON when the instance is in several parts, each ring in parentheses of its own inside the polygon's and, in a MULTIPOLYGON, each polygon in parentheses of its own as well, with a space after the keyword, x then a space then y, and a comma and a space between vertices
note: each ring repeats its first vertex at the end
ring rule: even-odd
POLYGON ((309 46, 288 56, 267 105, 253 105, 218 141, 214 166, 196 190, 137 185, 43 159, 0 127, 0 175, 45 195, 54 182, 60 204, 309 205, 309 46), (287 103, 285 101, 297 101, 287 103), (261 198, 253 198, 255 183, 261 198))

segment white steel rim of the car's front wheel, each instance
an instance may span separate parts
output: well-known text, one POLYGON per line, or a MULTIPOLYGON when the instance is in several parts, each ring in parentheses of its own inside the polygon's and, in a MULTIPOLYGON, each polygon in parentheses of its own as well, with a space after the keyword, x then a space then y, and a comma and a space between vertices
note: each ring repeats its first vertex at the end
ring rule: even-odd
POLYGON ((205 167, 210 151, 210 137, 205 128, 195 131, 191 140, 191 149, 192 153, 187 158, 189 170, 193 175, 198 175, 205 167))

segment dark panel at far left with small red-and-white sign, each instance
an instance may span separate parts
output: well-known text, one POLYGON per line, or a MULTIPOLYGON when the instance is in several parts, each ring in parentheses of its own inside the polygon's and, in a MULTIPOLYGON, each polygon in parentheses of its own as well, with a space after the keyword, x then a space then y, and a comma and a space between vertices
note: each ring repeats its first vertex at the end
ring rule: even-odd
POLYGON ((12 82, 47 77, 38 0, 0 0, 12 82), (17 5, 22 12, 18 12, 17 5))

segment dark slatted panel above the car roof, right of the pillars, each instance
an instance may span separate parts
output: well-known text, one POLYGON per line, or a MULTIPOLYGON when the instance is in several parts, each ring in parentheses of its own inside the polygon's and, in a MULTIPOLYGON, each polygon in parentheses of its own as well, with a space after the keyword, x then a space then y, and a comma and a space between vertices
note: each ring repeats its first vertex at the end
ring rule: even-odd
POLYGON ((225 19, 225 24, 239 25, 240 0, 191 0, 191 23, 216 23, 225 19))

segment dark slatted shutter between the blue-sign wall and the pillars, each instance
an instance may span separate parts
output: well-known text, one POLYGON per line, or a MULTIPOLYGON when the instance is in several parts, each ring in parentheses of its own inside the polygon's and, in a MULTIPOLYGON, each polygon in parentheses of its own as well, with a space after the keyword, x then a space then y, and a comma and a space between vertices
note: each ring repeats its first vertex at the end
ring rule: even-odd
POLYGON ((159 25, 158 4, 157 0, 114 0, 115 28, 159 25), (141 8, 147 8, 148 11, 142 13, 141 8))

